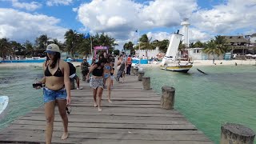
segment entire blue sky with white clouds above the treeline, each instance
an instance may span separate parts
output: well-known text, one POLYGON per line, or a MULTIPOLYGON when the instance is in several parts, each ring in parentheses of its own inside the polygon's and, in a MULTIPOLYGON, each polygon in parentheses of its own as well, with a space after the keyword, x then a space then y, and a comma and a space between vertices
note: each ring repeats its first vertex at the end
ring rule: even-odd
POLYGON ((184 34, 181 22, 189 18, 190 42, 206 42, 256 33, 255 11, 256 0, 0 0, 0 38, 23 43, 47 34, 64 42, 69 29, 104 32, 122 50, 142 34, 152 41, 184 34))

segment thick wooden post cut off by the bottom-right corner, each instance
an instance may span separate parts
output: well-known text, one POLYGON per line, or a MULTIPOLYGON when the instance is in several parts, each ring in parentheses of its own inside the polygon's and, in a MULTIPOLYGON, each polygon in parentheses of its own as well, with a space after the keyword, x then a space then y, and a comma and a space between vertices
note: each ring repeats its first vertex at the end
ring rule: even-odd
POLYGON ((226 123, 221 129, 221 144, 254 144, 255 133, 246 126, 226 123))

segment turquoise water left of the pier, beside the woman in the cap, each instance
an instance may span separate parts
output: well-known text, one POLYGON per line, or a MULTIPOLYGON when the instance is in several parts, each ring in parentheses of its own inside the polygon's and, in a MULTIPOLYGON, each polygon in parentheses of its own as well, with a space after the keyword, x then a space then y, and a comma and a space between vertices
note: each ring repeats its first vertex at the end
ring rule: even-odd
POLYGON ((9 96, 4 118, 0 121, 0 130, 19 116, 42 106, 42 90, 32 87, 35 78, 42 78, 42 68, 0 67, 0 95, 9 96))

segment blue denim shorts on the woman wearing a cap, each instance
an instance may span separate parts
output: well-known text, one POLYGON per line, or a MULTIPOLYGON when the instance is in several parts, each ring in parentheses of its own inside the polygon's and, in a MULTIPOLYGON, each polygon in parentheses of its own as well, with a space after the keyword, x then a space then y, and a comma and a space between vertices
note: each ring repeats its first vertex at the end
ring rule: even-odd
POLYGON ((61 90, 50 90, 47 87, 43 88, 43 102, 51 102, 56 99, 66 99, 66 89, 62 88, 61 90))

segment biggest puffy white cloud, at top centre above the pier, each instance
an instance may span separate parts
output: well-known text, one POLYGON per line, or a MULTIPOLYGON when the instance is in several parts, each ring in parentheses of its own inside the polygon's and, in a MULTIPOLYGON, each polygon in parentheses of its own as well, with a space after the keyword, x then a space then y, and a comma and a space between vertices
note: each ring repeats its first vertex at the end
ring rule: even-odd
POLYGON ((197 9, 195 0, 155 0, 138 3, 132 0, 93 0, 77 9, 78 21, 91 32, 105 32, 120 41, 134 39, 135 30, 180 26, 183 17, 197 9))

